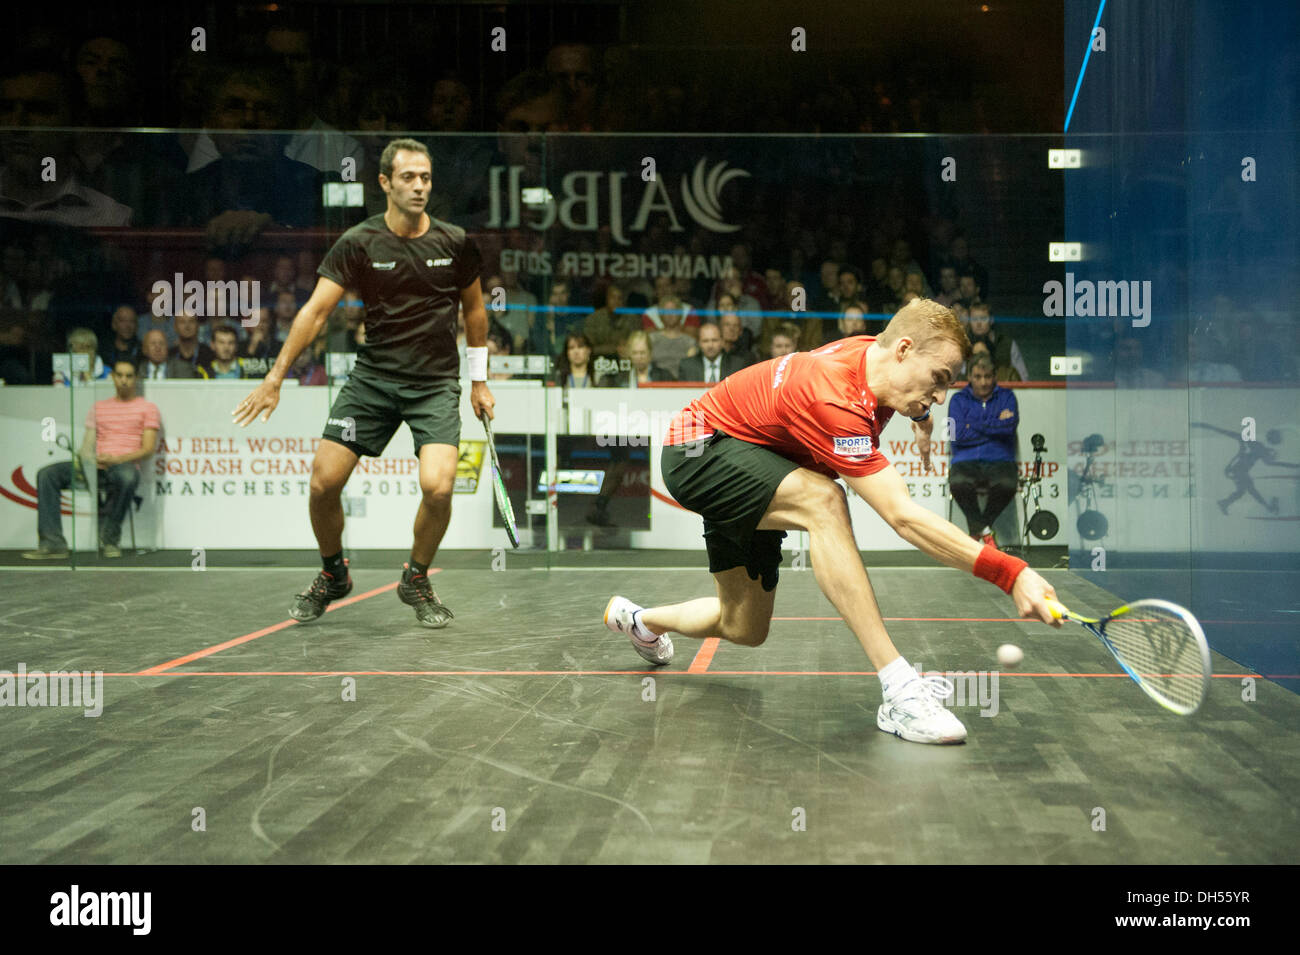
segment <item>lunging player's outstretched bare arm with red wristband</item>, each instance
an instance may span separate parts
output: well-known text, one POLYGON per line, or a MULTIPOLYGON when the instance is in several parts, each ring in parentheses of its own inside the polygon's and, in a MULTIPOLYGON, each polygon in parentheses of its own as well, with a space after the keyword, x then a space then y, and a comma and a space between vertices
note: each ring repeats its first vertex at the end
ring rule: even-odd
POLYGON ((1022 617, 1037 618, 1052 626, 1061 625, 1048 605, 1048 600, 1057 599, 1050 583, 1026 567, 1024 561, 1008 557, 992 547, 985 548, 963 534, 956 524, 920 507, 907 494, 907 485, 897 470, 883 468, 864 477, 841 477, 913 547, 948 567, 1002 587, 1015 600, 1022 617))

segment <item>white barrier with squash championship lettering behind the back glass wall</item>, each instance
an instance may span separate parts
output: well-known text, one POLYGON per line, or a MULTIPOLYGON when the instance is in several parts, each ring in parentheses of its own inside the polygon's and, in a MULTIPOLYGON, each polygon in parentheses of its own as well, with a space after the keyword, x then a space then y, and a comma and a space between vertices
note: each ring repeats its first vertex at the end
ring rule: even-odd
MULTIPOLYGON (((162 448, 144 466, 140 492, 144 504, 136 517, 142 546, 168 550, 312 548, 315 539, 307 513, 311 461, 329 412, 333 394, 325 387, 286 385, 269 422, 247 429, 235 426, 230 411, 251 388, 247 381, 150 382, 146 398, 162 416, 162 448)), ((702 394, 702 388, 590 388, 568 395, 567 416, 558 388, 538 382, 491 382, 497 398, 498 434, 543 435, 547 421, 554 430, 595 434, 603 440, 618 435, 650 438, 651 505, 646 531, 630 531, 632 547, 702 550, 702 526, 697 515, 671 502, 659 476, 663 431, 672 416, 702 394)), ((77 390, 75 444, 82 439, 81 422, 92 400, 112 396, 110 387, 77 390)), ((1044 456, 1043 508, 1057 515, 1062 531, 1048 543, 1066 538, 1065 482, 1065 392, 1060 390, 1017 391, 1020 407, 1020 468, 1032 461, 1030 435, 1041 433, 1049 453, 1044 456)), ((68 391, 48 387, 0 388, 0 435, 5 448, 4 508, 0 547, 35 544, 35 500, 21 483, 35 485, 40 466, 52 460, 40 421, 55 417, 68 433, 68 391)), ((935 435, 944 434, 946 405, 935 412, 935 435)), ((462 391, 462 435, 482 439, 482 427, 469 413, 469 390, 462 391)), ((1075 429, 1076 430, 1076 429, 1075 429)), ((898 417, 884 431, 884 452, 904 476, 913 496, 935 513, 948 516, 948 453, 939 442, 933 452, 936 473, 924 474, 910 422, 898 417)), ((419 500, 416 459, 411 433, 403 425, 381 457, 363 459, 344 489, 348 511, 344 543, 351 548, 402 548, 410 542, 411 522, 419 500)), ((508 547, 503 530, 494 529, 493 494, 482 464, 473 494, 452 499, 451 524, 443 547, 508 547)), ((850 496, 850 512, 858 544, 863 550, 907 550, 863 502, 850 496)), ((959 512, 954 511, 958 522, 959 512)), ((523 522, 523 515, 519 515, 523 522)), ((541 542, 537 542, 541 543, 541 542)), ((78 533, 78 546, 94 547, 94 534, 78 533)))

